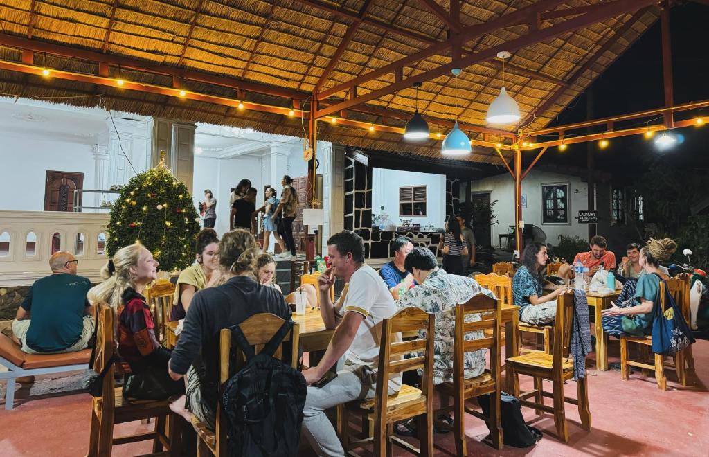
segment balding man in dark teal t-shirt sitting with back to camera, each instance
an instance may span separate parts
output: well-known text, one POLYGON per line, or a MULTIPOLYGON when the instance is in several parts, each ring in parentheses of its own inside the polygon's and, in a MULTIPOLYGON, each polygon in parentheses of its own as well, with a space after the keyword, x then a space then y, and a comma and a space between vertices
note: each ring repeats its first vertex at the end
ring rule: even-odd
POLYGON ((35 281, 18 308, 13 340, 27 354, 81 351, 89 344, 94 333, 93 308, 86 300, 91 281, 77 276, 78 263, 70 252, 52 254, 52 274, 35 281))

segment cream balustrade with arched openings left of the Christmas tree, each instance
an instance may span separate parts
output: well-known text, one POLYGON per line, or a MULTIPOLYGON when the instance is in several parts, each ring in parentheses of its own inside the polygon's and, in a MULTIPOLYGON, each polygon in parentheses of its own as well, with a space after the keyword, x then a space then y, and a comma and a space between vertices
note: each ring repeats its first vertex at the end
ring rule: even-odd
POLYGON ((108 214, 0 211, 0 286, 28 286, 51 273, 53 251, 79 259, 77 273, 99 282, 108 214))

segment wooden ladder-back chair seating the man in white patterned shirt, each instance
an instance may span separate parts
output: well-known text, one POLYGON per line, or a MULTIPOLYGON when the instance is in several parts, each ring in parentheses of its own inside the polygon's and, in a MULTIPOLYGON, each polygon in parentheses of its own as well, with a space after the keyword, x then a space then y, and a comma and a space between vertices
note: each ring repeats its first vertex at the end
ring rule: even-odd
MULTIPOLYGON (((501 358, 501 311, 500 300, 493 300, 487 295, 474 295, 466 303, 455 307, 455 329, 453 343, 453 381, 436 385, 443 395, 453 397, 453 406, 444 407, 438 412, 453 410, 453 426, 445 422, 437 422, 438 427, 452 429, 455 434, 455 448, 458 456, 467 456, 467 441, 465 436, 465 413, 472 414, 487 422, 491 429, 493 447, 502 448, 502 426, 500 415, 500 358, 501 358), (476 313, 489 313, 479 322, 468 322, 467 317, 476 313), (490 315, 492 319, 490 319, 490 315), (469 332, 489 330, 491 337, 481 339, 465 339, 469 332), (465 378, 464 354, 479 349, 490 349, 490 368, 480 376, 465 378), (465 400, 490 394, 490 417, 469 408, 465 400)), ((436 446, 438 447, 438 446, 436 446)), ((445 449, 444 449, 445 451, 445 449)))

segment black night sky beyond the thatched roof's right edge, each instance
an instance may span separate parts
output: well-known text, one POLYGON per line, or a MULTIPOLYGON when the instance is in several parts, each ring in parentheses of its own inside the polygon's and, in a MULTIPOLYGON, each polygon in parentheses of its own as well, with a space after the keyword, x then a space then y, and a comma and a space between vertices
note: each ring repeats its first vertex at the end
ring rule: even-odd
MULTIPOLYGON (((670 10, 670 21, 674 104, 708 99, 709 6, 692 2, 674 6, 670 10)), ((593 119, 664 106, 659 19, 591 87, 593 119)), ((588 93, 586 91, 572 101, 571 106, 562 111, 549 126, 586 120, 588 93)), ((709 115, 709 109, 676 115, 676 119, 687 118, 689 115, 709 115)), ((632 120, 630 124, 617 124, 616 128, 642 126, 647 120, 632 120)), ((661 123, 661 119, 653 123, 661 123)), ((682 135, 684 142, 665 152, 659 152, 653 141, 645 140, 643 135, 611 139, 610 145, 603 150, 598 149, 597 143, 593 142, 596 169, 613 173, 614 181, 632 180, 649 167, 668 163, 673 167, 709 169, 709 125, 703 128, 676 129, 673 132, 678 137, 682 135)), ((537 138, 537 141, 542 141, 542 138, 537 138)), ((531 162, 535 155, 525 153, 524 162, 531 162)), ((569 145, 565 152, 559 152, 557 147, 549 148, 538 163, 586 168, 586 143, 569 145)))

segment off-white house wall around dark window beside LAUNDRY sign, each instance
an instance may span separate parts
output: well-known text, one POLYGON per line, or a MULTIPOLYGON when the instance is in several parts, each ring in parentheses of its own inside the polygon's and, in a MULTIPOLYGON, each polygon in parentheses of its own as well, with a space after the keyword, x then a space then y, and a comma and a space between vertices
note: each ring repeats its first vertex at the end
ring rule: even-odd
MULTIPOLYGON (((515 186, 509 174, 491 176, 471 184, 471 191, 490 191, 490 201, 497 201, 493 207, 498 225, 492 227, 492 242, 498 244, 498 234, 508 233, 509 225, 515 223, 515 186)), ((547 234, 547 243, 558 244, 559 235, 588 237, 588 225, 576 222, 579 210, 588 209, 588 186, 577 176, 535 171, 532 169, 522 181, 522 195, 527 198, 527 207, 522 208, 525 224, 534 224, 547 234), (542 184, 569 184, 569 224, 542 224, 542 184)), ((461 196, 463 200, 464 195, 461 196)))

